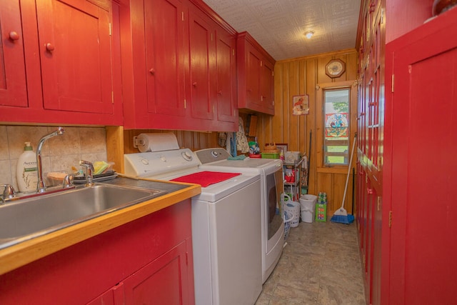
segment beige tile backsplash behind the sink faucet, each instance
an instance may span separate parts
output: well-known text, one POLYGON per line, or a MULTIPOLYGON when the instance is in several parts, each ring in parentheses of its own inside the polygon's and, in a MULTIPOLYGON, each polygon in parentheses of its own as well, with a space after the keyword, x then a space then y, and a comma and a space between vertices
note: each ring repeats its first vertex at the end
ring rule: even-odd
MULTIPOLYGON (((24 151, 24 142, 30 142, 36 151, 42 136, 56 126, 0 125, 0 184, 12 184, 17 190, 16 164, 24 151)), ((71 172, 79 169, 79 160, 106 161, 106 130, 104 127, 64 127, 65 133, 44 142, 41 149, 43 172, 71 172)), ((3 191, 3 189, 0 189, 3 191)))

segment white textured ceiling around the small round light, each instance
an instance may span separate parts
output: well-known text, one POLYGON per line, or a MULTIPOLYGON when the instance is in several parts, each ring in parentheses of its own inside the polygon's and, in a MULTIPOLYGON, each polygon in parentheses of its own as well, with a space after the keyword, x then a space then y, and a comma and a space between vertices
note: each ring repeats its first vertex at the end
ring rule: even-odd
POLYGON ((276 61, 356 47, 361 0, 203 0, 276 61), (314 31, 311 39, 304 33, 314 31))

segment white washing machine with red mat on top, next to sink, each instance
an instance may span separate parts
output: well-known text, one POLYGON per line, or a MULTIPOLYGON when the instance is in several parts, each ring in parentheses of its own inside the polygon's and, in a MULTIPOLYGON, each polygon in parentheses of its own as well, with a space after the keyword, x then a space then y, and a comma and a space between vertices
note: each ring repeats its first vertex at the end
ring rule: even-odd
POLYGON ((125 154, 124 161, 129 176, 209 184, 192 198, 196 304, 254 304, 262 289, 259 175, 224 180, 226 173, 199 169, 189 149, 125 154))

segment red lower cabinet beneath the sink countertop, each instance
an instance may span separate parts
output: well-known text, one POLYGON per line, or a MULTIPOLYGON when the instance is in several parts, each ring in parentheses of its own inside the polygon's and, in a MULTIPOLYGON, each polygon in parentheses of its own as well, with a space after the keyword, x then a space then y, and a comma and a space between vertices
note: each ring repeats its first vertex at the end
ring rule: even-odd
POLYGON ((0 304, 194 304, 191 203, 0 276, 0 304))

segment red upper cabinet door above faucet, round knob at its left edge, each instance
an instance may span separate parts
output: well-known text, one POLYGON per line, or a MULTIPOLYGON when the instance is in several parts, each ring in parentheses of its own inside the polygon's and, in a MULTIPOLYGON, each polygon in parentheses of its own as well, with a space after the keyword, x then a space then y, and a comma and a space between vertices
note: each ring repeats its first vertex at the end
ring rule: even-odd
POLYGON ((45 109, 113 113, 110 11, 109 0, 36 1, 45 109))

